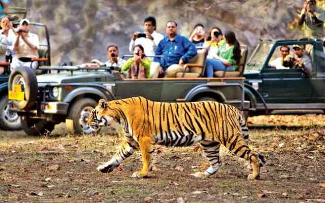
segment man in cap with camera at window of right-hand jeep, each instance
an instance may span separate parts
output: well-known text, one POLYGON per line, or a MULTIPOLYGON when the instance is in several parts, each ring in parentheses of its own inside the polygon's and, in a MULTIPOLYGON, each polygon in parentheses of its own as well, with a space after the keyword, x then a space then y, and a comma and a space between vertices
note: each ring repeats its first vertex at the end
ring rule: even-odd
POLYGON ((310 74, 312 71, 311 60, 309 56, 304 52, 304 45, 294 45, 294 68, 302 69, 305 73, 310 74))

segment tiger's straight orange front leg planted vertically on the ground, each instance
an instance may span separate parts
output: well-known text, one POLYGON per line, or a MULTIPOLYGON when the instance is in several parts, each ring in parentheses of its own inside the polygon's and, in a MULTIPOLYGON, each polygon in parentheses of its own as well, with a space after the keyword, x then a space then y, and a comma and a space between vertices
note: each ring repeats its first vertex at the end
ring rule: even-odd
POLYGON ((139 141, 143 167, 141 171, 133 173, 133 178, 144 178, 147 177, 150 167, 152 167, 152 156, 154 153, 154 145, 150 137, 142 137, 139 141))

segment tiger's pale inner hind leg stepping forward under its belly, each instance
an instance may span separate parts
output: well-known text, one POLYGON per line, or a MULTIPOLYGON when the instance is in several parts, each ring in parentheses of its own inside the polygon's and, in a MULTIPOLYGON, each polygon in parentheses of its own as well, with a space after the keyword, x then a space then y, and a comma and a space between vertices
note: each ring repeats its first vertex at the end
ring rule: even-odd
POLYGON ((196 178, 207 178, 215 174, 220 166, 219 149, 220 143, 214 141, 201 141, 201 146, 204 151, 204 155, 208 158, 210 166, 205 172, 197 172, 193 176, 196 178))

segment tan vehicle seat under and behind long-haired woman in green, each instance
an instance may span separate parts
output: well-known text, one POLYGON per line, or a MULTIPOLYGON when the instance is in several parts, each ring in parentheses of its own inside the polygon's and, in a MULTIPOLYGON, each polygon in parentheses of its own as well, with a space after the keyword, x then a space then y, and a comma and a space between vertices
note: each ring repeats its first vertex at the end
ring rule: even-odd
POLYGON ((241 50, 241 58, 239 61, 238 70, 237 71, 215 71, 214 72, 215 77, 239 77, 243 75, 247 54, 248 54, 247 46, 241 45, 240 50, 241 50))

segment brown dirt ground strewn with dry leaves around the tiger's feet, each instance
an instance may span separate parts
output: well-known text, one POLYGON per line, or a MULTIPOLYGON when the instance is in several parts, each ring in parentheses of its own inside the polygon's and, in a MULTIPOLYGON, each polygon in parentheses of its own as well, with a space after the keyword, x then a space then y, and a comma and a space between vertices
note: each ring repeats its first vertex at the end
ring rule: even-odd
POLYGON ((110 174, 96 167, 113 156, 121 133, 72 136, 57 125, 47 137, 0 131, 0 202, 325 202, 325 116, 249 118, 252 149, 267 158, 261 180, 247 181, 244 160, 221 149, 223 165, 207 179, 200 147, 157 147, 154 171, 139 153, 110 174))

